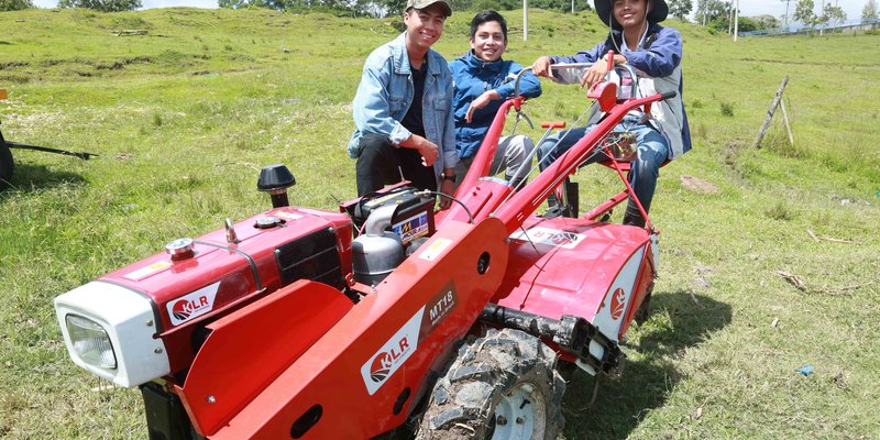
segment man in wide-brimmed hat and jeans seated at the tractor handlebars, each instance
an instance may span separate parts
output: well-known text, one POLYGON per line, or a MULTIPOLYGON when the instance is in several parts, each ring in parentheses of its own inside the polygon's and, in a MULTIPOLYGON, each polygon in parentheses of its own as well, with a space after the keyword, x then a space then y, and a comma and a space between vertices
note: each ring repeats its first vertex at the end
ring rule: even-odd
MULTIPOLYGON (((604 80, 607 73, 607 53, 614 51, 614 64, 628 64, 638 75, 637 97, 676 91, 676 96, 651 106, 651 119, 641 121, 644 114, 634 111, 627 114, 615 131, 629 131, 638 143, 637 158, 631 164, 630 183, 645 211, 651 199, 660 175, 660 165, 691 150, 691 133, 682 103, 682 38, 673 28, 658 23, 667 19, 669 8, 663 0, 595 0, 600 20, 608 25, 608 37, 590 51, 572 56, 542 56, 534 64, 539 76, 553 78, 551 65, 557 63, 595 63, 581 77, 581 86, 592 86, 604 80)), ((595 123, 597 114, 587 124, 595 123)), ((572 129, 547 140, 539 147, 541 169, 566 152, 583 138, 590 128, 572 129)), ((590 162, 601 161, 595 154, 590 162)), ((624 223, 645 226, 638 207, 629 200, 624 223)))

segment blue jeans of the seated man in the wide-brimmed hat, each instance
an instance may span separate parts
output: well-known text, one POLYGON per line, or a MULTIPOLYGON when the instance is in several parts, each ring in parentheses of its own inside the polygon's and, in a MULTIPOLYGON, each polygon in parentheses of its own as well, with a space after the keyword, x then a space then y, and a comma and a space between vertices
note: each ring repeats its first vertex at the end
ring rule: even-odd
MULTIPOLYGON (((626 116, 624 120, 614 128, 613 131, 629 131, 636 135, 638 144, 638 157, 632 161, 629 173, 629 185, 636 193, 645 212, 651 208, 651 199, 657 188, 657 177, 660 176, 660 165, 669 157, 669 141, 653 127, 647 123, 637 123, 639 120, 635 116, 626 116), (627 129, 628 128, 628 129, 627 129)), ((548 138, 538 147, 538 166, 544 170, 557 158, 562 156, 574 145, 584 134, 592 130, 594 125, 561 131, 548 138)), ((591 155, 584 165, 602 162, 607 156, 601 151, 591 155)), ((628 216, 641 217, 638 207, 630 200, 626 207, 628 216)))

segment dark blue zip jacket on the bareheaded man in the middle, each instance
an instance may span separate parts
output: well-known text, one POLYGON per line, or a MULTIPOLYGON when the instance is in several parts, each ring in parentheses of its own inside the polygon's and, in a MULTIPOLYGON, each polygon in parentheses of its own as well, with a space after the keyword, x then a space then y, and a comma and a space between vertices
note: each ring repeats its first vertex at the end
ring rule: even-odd
MULTIPOLYGON (((495 89, 502 99, 513 98, 516 74, 522 70, 522 66, 504 59, 486 63, 470 51, 450 63, 449 68, 452 70, 455 88, 452 107, 455 112, 455 144, 459 157, 473 157, 503 101, 491 101, 486 107, 474 111, 470 123, 464 122, 468 107, 483 92, 492 89, 495 89)), ((519 95, 525 95, 527 98, 541 96, 541 82, 538 77, 526 73, 519 81, 519 95)))

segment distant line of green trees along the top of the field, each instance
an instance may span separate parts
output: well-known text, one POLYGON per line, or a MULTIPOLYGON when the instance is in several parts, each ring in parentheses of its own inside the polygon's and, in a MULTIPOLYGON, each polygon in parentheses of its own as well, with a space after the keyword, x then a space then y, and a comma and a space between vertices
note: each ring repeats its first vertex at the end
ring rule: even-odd
MULTIPOLYGON (((785 14, 780 20, 773 15, 740 16, 739 31, 757 31, 773 29, 790 23, 801 23, 811 29, 846 21, 843 8, 824 4, 818 11, 814 0, 780 0, 785 3, 785 14), (794 10, 789 13, 792 1, 794 10)), ((267 8, 277 11, 307 12, 320 11, 349 16, 388 16, 403 12, 406 0, 218 0, 218 7, 229 9, 267 8)), ((522 6, 521 0, 450 0, 453 10, 513 10, 522 6)), ((529 0, 529 8, 553 10, 560 12, 579 12, 590 10, 586 0, 529 0)), ((680 21, 689 21, 693 11, 697 24, 715 31, 732 32, 734 3, 733 0, 668 0, 669 13, 680 21)), ((100 12, 134 11, 141 9, 141 0, 59 0, 58 8, 84 8, 100 12)), ((0 11, 18 11, 36 8, 33 0, 0 0, 0 11)), ((866 0, 861 11, 862 22, 878 20, 877 0, 866 0)))

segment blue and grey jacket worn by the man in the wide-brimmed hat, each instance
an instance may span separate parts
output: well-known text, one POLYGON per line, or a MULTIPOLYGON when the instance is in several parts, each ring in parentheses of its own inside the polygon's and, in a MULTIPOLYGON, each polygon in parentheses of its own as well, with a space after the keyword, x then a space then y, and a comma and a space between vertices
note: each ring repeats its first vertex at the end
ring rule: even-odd
MULTIPOLYGON (((623 46, 620 31, 613 30, 604 43, 590 51, 551 58, 553 63, 595 63, 608 51, 620 53, 623 46)), ((651 23, 642 46, 636 51, 624 50, 623 55, 626 56, 627 64, 639 74, 640 96, 678 90, 675 98, 651 106, 651 116, 656 121, 654 127, 669 139, 670 160, 690 151, 691 130, 682 100, 684 81, 681 74, 682 38, 679 31, 651 23)))

